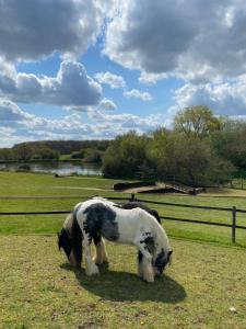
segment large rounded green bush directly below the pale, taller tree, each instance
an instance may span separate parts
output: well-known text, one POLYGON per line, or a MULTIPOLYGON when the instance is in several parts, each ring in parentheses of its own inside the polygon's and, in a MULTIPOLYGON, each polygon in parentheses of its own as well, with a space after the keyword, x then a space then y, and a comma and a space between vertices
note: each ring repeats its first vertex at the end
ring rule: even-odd
POLYGON ((216 156, 208 140, 198 137, 159 132, 149 147, 160 180, 175 177, 192 186, 210 185, 223 182, 233 171, 233 166, 216 156))

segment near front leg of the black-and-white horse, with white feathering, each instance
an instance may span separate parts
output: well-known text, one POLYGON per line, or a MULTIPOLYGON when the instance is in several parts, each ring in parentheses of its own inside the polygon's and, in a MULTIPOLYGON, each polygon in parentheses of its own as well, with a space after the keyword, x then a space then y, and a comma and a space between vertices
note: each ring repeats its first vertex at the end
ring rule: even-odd
POLYGON ((154 271, 152 266, 152 254, 148 250, 148 246, 142 241, 138 241, 136 246, 139 249, 138 271, 139 275, 147 282, 154 282, 154 271))

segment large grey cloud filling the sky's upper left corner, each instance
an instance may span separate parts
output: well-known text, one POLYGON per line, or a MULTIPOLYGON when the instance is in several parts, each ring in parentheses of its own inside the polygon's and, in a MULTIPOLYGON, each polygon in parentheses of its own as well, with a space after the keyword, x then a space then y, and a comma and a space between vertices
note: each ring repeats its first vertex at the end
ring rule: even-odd
POLYGON ((95 43, 110 3, 1 0, 0 55, 11 60, 36 60, 54 52, 78 56, 95 43))

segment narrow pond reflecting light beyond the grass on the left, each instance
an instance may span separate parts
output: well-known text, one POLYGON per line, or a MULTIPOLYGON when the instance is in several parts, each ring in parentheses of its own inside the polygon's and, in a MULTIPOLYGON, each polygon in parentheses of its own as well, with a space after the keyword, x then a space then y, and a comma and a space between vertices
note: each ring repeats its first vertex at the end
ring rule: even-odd
POLYGON ((82 175, 101 175, 101 167, 93 163, 78 163, 78 162, 32 162, 32 163, 0 163, 0 170, 19 171, 21 166, 27 164, 31 172, 72 174, 78 173, 82 175))

